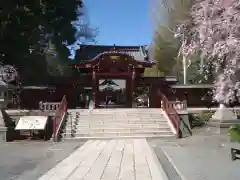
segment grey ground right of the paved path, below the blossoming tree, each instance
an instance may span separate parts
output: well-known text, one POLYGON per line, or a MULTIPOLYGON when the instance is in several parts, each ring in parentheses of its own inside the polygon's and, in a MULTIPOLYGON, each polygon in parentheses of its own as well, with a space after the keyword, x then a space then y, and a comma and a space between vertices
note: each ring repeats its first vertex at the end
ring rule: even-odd
POLYGON ((240 160, 232 161, 226 134, 198 129, 192 137, 179 140, 149 139, 171 180, 239 180, 240 160), (166 160, 167 159, 167 160, 166 160))

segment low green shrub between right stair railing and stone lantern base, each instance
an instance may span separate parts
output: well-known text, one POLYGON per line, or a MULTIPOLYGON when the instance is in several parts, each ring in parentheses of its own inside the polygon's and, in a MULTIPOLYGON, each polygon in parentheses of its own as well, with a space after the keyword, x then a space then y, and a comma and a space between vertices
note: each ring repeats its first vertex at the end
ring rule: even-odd
POLYGON ((205 125, 211 117, 212 113, 197 113, 188 115, 191 128, 205 125))

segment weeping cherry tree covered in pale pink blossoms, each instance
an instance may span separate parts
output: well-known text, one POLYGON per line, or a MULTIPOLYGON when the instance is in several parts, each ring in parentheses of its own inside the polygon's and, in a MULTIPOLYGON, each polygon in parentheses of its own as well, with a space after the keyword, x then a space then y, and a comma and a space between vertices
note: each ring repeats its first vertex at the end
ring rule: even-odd
POLYGON ((215 78, 214 99, 240 100, 240 1, 194 0, 190 19, 177 27, 180 53, 200 53, 202 70, 215 78))

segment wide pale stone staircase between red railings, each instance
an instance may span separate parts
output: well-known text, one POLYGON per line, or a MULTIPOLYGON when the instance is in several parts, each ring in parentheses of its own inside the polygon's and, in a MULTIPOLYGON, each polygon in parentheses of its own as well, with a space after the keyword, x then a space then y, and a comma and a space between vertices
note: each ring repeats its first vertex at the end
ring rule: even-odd
POLYGON ((62 139, 175 137, 160 109, 68 111, 62 139))

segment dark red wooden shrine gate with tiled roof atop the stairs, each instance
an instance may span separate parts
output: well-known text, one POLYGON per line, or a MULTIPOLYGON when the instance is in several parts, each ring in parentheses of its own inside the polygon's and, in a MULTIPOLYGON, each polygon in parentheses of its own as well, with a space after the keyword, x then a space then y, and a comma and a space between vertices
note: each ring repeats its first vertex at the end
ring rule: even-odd
POLYGON ((167 93, 169 85, 176 83, 171 77, 143 76, 145 68, 155 64, 146 46, 85 45, 77 51, 75 61, 79 63, 72 65, 74 77, 61 79, 56 86, 56 91, 66 94, 70 108, 88 107, 90 100, 95 108, 104 107, 107 101, 113 102, 107 107, 131 108, 139 88, 148 91, 147 107, 160 107, 159 90, 167 93), (116 84, 112 80, 122 82, 123 87, 101 88, 106 82, 116 84))

